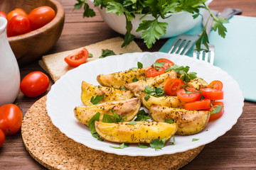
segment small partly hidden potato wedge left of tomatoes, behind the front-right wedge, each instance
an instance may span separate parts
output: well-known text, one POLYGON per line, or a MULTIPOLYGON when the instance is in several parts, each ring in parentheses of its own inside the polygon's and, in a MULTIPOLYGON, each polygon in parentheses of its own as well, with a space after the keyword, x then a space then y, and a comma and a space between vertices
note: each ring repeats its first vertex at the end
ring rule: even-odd
POLYGON ((183 108, 183 104, 185 103, 179 100, 177 96, 154 97, 150 95, 150 98, 147 101, 145 100, 145 96, 146 94, 142 92, 142 103, 147 109, 149 109, 153 103, 156 105, 167 106, 172 108, 183 108))

